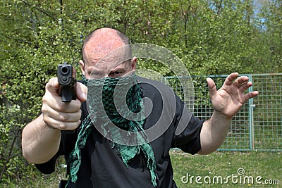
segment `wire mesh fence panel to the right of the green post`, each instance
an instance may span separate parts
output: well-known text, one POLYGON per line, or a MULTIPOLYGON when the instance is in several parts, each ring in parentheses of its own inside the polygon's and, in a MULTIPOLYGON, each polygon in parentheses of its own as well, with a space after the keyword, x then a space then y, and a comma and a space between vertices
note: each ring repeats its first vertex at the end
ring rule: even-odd
POLYGON ((254 75, 254 147, 258 150, 282 150, 282 74, 254 75))

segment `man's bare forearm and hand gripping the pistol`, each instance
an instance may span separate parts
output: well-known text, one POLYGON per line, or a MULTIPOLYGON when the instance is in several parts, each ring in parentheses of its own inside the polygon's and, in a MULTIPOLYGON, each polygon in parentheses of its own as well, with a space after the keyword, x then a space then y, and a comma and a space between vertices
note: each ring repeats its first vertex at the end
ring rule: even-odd
POLYGON ((87 87, 78 83, 76 89, 78 99, 64 103, 58 94, 58 79, 46 84, 42 114, 23 129, 23 156, 30 163, 49 161, 59 150, 61 130, 74 130, 80 124, 80 106, 86 100, 87 87))

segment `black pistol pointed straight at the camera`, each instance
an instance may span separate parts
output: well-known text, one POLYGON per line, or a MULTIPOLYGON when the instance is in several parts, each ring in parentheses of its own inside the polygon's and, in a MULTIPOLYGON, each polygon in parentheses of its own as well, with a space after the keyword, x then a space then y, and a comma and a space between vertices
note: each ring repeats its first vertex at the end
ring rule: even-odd
POLYGON ((71 102, 76 99, 76 70, 72 65, 64 62, 58 65, 57 77, 59 81, 59 95, 63 102, 71 102))

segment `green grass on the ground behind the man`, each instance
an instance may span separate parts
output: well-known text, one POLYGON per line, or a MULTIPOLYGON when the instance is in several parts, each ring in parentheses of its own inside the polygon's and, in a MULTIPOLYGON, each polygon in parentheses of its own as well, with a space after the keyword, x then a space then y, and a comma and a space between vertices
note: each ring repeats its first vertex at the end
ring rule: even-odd
MULTIPOLYGON (((282 153, 280 152, 214 152, 207 156, 183 153, 171 150, 174 180, 179 188, 183 187, 282 187, 282 153), (245 173, 238 175, 238 169, 243 168, 245 173), (197 177, 198 176, 198 177, 197 177), (228 180, 226 180, 226 178, 228 180), (232 180, 233 176, 233 180, 232 180), (188 179, 187 179, 188 177, 188 179), (202 182, 199 184, 196 182, 202 182), (221 179, 223 183, 221 184, 221 179), (253 178, 254 182, 251 183, 253 178), (264 180, 278 180, 279 184, 257 184, 264 180), (204 179, 205 178, 205 179, 204 179), (211 179, 211 183, 209 182, 211 179), (214 182, 213 183, 213 178, 214 182), (240 180, 241 178, 241 180, 240 180), (183 180, 181 180, 183 179, 183 180), (245 179, 245 183, 244 183, 245 179), (192 180, 192 182, 190 181, 192 180), (218 182, 219 180, 219 182, 218 182), (236 183, 237 181, 237 183, 236 183), (226 182, 226 183, 224 183, 226 182)), ((31 176, 20 182, 12 181, 9 184, 0 184, 0 187, 58 187, 59 181, 65 178, 65 169, 56 169, 51 175, 42 175, 32 172, 31 176)), ((275 182, 277 183, 277 182, 275 182)))

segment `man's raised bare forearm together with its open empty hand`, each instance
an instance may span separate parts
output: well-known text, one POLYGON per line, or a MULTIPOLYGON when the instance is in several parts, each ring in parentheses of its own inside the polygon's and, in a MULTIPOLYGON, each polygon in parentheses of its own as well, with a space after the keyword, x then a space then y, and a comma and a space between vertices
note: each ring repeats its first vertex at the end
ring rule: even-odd
POLYGON ((233 116, 238 113, 243 104, 258 92, 244 92, 252 86, 248 77, 238 77, 238 73, 228 75, 221 89, 216 91, 216 85, 211 78, 207 78, 209 97, 214 113, 205 121, 200 133, 201 149, 199 154, 209 154, 221 146, 226 139, 233 116), (234 81, 235 80, 235 81, 234 81))

